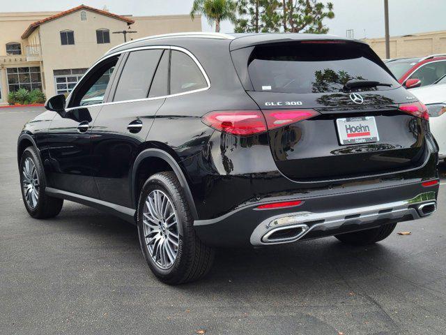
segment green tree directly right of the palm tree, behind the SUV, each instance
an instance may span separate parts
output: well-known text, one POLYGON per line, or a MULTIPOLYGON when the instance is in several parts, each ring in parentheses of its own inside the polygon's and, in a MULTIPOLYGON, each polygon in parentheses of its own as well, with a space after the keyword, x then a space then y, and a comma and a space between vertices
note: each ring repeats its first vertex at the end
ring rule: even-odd
POLYGON ((266 33, 279 31, 281 3, 277 0, 239 0, 234 31, 236 33, 266 33))

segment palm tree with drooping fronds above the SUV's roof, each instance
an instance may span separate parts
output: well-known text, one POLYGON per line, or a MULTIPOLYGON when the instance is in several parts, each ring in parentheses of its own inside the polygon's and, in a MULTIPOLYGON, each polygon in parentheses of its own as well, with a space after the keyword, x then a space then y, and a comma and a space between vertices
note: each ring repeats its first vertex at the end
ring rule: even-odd
POLYGON ((215 22, 215 32, 220 33, 221 21, 236 21, 236 3, 231 0, 194 0, 190 10, 192 20, 196 14, 205 16, 209 24, 215 22))

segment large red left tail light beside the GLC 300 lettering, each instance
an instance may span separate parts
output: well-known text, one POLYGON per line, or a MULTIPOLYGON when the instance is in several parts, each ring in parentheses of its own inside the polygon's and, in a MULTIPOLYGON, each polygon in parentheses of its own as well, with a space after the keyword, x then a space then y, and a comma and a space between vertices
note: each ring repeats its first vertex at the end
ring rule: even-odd
POLYGON ((223 133, 248 136, 294 124, 318 114, 316 110, 224 110, 209 112, 201 117, 201 121, 223 133))

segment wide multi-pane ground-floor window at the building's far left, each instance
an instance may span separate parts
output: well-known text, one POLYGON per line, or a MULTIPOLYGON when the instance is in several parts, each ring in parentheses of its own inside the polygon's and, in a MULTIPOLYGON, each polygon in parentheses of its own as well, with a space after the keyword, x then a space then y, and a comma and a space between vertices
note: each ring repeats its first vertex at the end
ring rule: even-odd
POLYGON ((40 76, 40 67, 31 66, 26 68, 7 68, 9 91, 18 91, 19 89, 40 89, 42 91, 42 79, 40 76))

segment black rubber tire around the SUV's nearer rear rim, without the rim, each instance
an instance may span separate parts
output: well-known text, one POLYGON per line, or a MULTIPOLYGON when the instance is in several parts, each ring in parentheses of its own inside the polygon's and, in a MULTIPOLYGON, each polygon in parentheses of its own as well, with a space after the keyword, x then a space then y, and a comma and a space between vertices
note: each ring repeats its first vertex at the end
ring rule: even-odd
POLYGON ((197 281, 210 270, 215 252, 213 248, 199 240, 195 234, 193 223, 185 193, 174 172, 160 172, 147 179, 139 195, 137 209, 139 243, 148 266, 160 281, 169 285, 188 283, 197 281), (153 261, 144 236, 142 220, 144 204, 148 195, 155 190, 162 191, 168 196, 177 216, 179 236, 177 255, 169 269, 162 269, 153 261))

